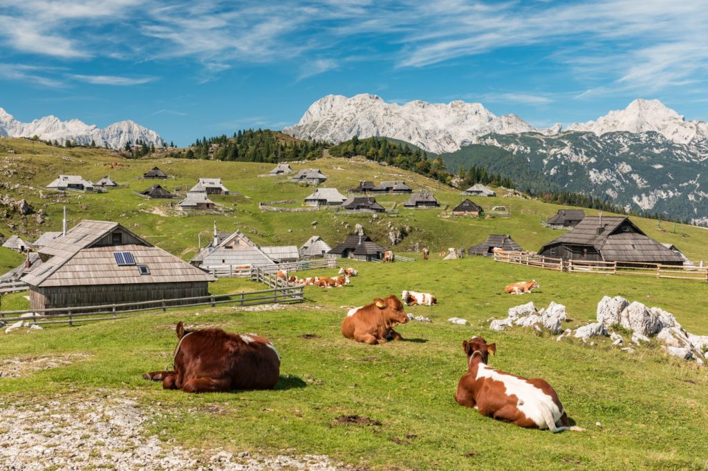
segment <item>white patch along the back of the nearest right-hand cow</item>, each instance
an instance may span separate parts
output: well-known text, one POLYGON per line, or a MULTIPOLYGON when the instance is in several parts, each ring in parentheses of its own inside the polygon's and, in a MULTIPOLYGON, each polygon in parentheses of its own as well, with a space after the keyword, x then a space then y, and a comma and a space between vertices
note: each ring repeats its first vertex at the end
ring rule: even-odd
POLYGON ((544 411, 542 408, 548 408, 553 416, 554 423, 558 422, 563 415, 563 411, 556 406, 556 403, 553 402, 549 395, 535 385, 528 383, 526 380, 515 376, 500 374, 498 371, 489 368, 489 366, 482 362, 480 362, 477 368, 476 377, 489 378, 503 383, 506 388, 506 395, 515 395, 518 397, 516 407, 518 407, 526 417, 531 419, 539 429, 549 428, 549 425, 544 419, 544 411))

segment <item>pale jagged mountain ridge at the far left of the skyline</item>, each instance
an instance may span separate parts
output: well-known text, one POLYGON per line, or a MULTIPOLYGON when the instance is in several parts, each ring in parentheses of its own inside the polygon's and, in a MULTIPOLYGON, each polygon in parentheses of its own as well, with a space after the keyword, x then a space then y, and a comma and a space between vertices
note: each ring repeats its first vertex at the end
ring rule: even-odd
POLYGON ((86 145, 93 141, 96 146, 108 145, 111 149, 121 149, 127 142, 134 144, 138 140, 155 146, 166 144, 159 134, 130 120, 116 122, 103 129, 79 120, 62 121, 55 116, 45 116, 25 123, 16 120, 2 108, 0 108, 0 136, 38 136, 40 139, 58 141, 62 145, 67 139, 86 145))

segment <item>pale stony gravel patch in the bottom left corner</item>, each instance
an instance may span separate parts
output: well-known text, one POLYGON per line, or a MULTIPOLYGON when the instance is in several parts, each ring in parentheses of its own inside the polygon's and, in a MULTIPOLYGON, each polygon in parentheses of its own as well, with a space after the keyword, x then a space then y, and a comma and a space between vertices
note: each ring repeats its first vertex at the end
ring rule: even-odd
MULTIPOLYGON (((159 414, 159 413, 158 413, 159 414)), ((352 468, 326 456, 236 455, 193 452, 145 436, 147 416, 124 396, 42 405, 4 405, 0 414, 0 470, 317 470, 352 468)))

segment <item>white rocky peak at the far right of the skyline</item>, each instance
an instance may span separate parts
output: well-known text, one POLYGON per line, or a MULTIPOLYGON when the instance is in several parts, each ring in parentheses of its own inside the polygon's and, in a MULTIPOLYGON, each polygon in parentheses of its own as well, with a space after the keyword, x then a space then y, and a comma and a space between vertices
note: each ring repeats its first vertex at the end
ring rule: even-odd
POLYGON ((676 144, 708 139, 708 122, 686 121, 659 100, 634 100, 624 110, 610 111, 597 121, 573 123, 567 131, 590 131, 598 136, 607 132, 642 133, 655 131, 676 144))

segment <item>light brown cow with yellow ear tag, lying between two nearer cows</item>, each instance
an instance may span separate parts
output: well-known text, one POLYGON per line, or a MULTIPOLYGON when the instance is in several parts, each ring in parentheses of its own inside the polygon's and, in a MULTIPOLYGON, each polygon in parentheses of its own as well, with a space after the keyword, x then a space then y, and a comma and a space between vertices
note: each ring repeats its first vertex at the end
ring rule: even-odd
POLYGON ((374 298, 374 302, 360 308, 351 308, 341 325, 342 335, 357 342, 375 345, 389 340, 402 340, 394 330, 408 322, 403 303, 393 294, 387 298, 374 298))

